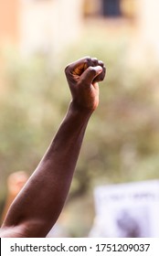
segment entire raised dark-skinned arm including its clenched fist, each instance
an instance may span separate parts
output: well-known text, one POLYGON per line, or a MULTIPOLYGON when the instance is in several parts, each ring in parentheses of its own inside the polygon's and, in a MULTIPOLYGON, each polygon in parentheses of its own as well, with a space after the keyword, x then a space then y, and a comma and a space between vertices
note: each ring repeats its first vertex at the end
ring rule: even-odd
POLYGON ((0 236, 46 237, 56 223, 69 193, 83 136, 99 104, 102 61, 85 57, 70 63, 65 74, 72 99, 46 154, 8 210, 0 236))

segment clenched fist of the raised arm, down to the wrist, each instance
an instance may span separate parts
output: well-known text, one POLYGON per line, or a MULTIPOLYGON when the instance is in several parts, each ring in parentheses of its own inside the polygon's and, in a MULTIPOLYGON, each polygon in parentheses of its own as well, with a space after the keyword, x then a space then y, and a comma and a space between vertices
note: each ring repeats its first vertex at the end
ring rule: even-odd
POLYGON ((105 77, 105 66, 101 60, 82 58, 70 63, 66 77, 76 108, 94 111, 99 104, 99 84, 105 77))

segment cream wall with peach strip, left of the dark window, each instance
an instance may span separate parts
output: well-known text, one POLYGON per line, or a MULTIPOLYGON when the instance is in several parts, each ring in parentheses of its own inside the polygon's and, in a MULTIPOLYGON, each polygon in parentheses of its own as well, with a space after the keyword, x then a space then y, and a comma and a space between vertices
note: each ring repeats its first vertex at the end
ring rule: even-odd
POLYGON ((59 51, 80 36, 83 0, 0 0, 1 43, 59 51))

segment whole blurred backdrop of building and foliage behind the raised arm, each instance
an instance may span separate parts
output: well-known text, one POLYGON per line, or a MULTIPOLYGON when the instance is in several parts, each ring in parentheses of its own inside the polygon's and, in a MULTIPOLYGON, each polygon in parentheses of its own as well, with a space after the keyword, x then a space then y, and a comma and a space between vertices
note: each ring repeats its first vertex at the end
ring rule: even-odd
POLYGON ((89 236, 95 187, 159 179, 158 8, 156 0, 0 0, 1 216, 8 176, 34 171, 68 108, 65 66, 84 56, 101 59, 107 77, 55 236, 89 236))

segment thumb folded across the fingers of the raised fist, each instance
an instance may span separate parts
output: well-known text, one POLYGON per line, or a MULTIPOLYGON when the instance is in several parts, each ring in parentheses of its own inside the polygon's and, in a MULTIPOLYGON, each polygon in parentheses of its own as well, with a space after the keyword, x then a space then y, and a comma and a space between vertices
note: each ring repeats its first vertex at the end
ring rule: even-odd
POLYGON ((101 66, 89 67, 81 74, 80 82, 88 86, 101 72, 101 66))

